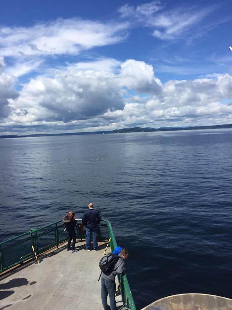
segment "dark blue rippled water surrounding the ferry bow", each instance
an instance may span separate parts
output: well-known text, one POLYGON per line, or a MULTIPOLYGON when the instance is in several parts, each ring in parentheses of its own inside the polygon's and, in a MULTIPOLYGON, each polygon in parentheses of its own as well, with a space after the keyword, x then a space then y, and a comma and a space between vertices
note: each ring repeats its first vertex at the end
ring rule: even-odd
POLYGON ((231 151, 231 130, 1 139, 1 240, 93 202, 130 251, 138 309, 232 298, 231 151))

